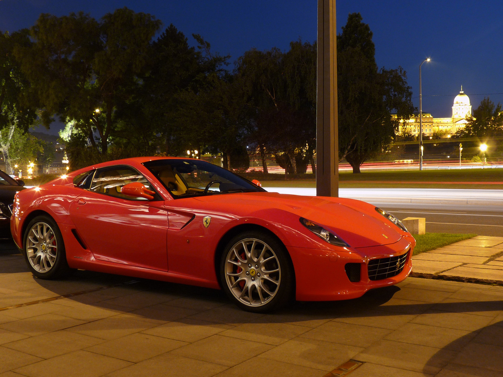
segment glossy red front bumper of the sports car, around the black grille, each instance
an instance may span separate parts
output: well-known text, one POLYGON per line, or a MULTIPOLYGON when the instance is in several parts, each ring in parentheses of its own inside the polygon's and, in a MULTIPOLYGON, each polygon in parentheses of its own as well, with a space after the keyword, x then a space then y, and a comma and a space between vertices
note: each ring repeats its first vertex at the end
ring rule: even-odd
POLYGON ((402 237, 390 245, 372 246, 351 251, 330 251, 288 247, 295 269, 296 299, 299 301, 334 301, 361 297, 367 291, 391 286, 404 280, 412 269, 411 256, 415 242, 402 237), (400 271, 391 277, 371 280, 369 261, 407 254, 400 271), (359 281, 350 281, 347 263, 359 263, 359 281))

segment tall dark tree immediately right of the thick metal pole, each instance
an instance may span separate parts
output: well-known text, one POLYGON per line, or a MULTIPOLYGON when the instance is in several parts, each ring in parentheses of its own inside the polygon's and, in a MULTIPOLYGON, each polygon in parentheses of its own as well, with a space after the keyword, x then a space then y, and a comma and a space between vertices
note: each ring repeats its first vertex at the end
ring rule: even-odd
POLYGON ((359 13, 350 14, 337 37, 339 159, 353 172, 390 143, 400 119, 413 112, 405 71, 377 69, 372 32, 359 13), (391 113, 398 119, 391 119, 391 113))

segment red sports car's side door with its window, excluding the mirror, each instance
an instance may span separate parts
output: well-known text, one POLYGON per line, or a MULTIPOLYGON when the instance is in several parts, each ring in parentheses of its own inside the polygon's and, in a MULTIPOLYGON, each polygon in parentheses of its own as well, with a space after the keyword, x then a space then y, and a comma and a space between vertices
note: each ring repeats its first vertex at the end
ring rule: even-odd
POLYGON ((76 231, 96 259, 167 271, 167 211, 154 200, 121 194, 121 187, 148 180, 130 166, 96 170, 90 184, 70 205, 76 231))

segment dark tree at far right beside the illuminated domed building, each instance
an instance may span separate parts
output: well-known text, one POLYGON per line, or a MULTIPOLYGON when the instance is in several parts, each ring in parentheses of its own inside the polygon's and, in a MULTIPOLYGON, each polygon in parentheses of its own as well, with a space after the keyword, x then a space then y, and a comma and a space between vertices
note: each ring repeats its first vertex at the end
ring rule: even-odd
POLYGON ((466 126, 461 130, 462 136, 496 136, 503 133, 503 112, 501 105, 485 98, 480 102, 478 108, 473 111, 473 116, 469 116, 466 126))

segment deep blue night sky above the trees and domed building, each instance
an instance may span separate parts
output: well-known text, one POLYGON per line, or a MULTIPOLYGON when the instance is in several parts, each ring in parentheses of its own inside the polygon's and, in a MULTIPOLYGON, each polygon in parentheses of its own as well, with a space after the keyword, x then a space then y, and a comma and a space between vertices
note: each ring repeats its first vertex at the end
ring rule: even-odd
MULTIPOLYGON (((194 44, 203 36, 212 50, 231 55, 316 39, 316 0, 0 0, 0 30, 32 26, 40 13, 56 16, 84 11, 99 19, 117 8, 154 15, 163 28, 174 24, 194 44)), ((349 13, 360 12, 374 33, 379 67, 402 66, 419 106, 419 73, 423 64, 423 111, 452 116, 454 97, 463 85, 475 109, 485 96, 503 103, 503 2, 501 0, 338 0, 337 26, 349 13)), ((163 30, 163 29, 162 29, 163 30)), ((232 65, 230 66, 232 67, 232 65)))

